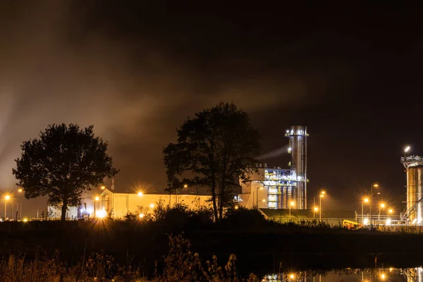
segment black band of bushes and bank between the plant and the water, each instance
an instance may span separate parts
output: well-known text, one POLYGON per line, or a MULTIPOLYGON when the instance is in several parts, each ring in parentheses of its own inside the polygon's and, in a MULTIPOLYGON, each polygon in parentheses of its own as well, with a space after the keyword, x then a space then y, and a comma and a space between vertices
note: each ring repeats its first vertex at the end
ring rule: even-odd
MULTIPOLYGON (((215 255, 219 258, 216 265, 222 267, 235 255, 238 278, 278 269, 369 267, 374 266, 375 257, 380 264, 396 267, 423 264, 420 244, 423 235, 405 230, 349 231, 318 222, 281 224, 266 221, 256 210, 243 208, 229 209, 218 223, 214 223, 213 217, 209 209, 191 211, 183 205, 172 209, 158 205, 142 219, 128 214, 123 221, 4 222, 0 224, 0 252, 4 257, 25 257, 27 262, 36 257, 54 257, 71 269, 80 269, 90 254, 111 256, 123 273, 133 269, 139 276, 154 278, 174 275, 168 272, 169 267, 180 269, 177 264, 169 264, 169 260, 166 266, 166 254, 168 235, 182 234, 183 238, 172 238, 178 238, 178 245, 185 246, 188 243, 184 238, 189 240, 192 251, 185 247, 178 254, 190 253, 187 256, 192 265, 198 267, 193 252, 213 263, 215 255)), ((208 271, 205 262, 201 265, 208 271)))

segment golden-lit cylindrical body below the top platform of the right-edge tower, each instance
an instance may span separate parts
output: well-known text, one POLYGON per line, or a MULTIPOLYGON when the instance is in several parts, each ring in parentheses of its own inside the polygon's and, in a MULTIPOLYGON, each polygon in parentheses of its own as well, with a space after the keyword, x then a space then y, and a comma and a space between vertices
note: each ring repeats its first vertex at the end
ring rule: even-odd
POLYGON ((413 225, 423 225, 423 166, 407 168, 407 211, 413 225))

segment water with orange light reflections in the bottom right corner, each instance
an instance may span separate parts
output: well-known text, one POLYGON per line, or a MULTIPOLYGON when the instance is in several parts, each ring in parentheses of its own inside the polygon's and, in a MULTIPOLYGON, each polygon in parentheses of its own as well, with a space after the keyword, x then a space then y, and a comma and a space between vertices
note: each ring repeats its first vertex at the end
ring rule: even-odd
POLYGON ((267 274, 262 282, 423 282, 423 268, 338 269, 333 271, 300 271, 267 274))

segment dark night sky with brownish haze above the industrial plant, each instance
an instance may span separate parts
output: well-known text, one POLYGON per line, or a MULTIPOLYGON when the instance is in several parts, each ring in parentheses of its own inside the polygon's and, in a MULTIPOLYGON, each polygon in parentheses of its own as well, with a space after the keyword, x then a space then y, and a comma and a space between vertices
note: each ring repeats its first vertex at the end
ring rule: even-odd
POLYGON ((324 188, 326 207, 361 209, 376 181, 402 211, 403 147, 423 154, 422 7, 204 3, 0 1, 0 187, 15 189, 21 142, 64 122, 109 140, 118 191, 162 190, 161 149, 225 101, 250 114, 263 154, 307 125, 309 195, 324 188))

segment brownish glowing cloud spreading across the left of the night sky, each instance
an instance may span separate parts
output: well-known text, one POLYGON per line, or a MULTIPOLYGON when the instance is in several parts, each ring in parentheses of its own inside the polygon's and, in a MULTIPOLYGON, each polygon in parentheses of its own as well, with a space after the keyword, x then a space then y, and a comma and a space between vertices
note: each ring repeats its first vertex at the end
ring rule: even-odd
MULTIPOLYGON (((197 40, 196 34, 178 39, 171 25, 162 25, 154 37, 158 22, 146 26, 148 18, 137 18, 140 7, 128 3, 134 11, 116 3, 116 11, 103 11, 85 1, 5 4, 0 22, 2 187, 14 183, 11 168, 20 143, 49 123, 94 124, 121 168, 117 187, 145 180, 161 189, 161 148, 175 139, 175 128, 187 116, 222 100, 254 112, 302 103, 307 96, 307 79, 281 75, 259 56, 231 56, 222 49, 212 60, 196 61, 199 57, 178 53, 187 40, 197 40), (174 48, 161 43, 169 38, 178 40, 174 48)), ((185 31, 175 32, 183 36, 185 31)))

